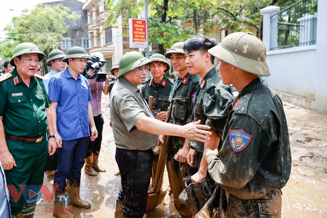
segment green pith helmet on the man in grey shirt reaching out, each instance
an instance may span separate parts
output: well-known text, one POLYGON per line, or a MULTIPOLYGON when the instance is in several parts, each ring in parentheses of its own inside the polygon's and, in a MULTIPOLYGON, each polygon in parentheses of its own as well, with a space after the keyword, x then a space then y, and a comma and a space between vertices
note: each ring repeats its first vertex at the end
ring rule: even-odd
POLYGON ((150 62, 152 61, 149 58, 145 58, 137 51, 126 52, 119 60, 119 73, 117 78, 150 62))

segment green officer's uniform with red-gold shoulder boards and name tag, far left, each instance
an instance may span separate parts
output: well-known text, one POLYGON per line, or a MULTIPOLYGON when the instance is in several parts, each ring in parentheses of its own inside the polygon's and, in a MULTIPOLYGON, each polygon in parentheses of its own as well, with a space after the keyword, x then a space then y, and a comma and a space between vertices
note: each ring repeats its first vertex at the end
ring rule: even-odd
MULTIPOLYGON (((48 149, 45 108, 49 107, 49 98, 42 79, 36 76, 31 77, 30 87, 27 87, 15 68, 7 79, 0 82, 0 116, 3 117, 8 149, 17 164, 5 174, 7 184, 14 185, 16 190, 20 190, 19 185, 38 186, 43 183, 48 149), (13 136, 24 140, 9 139, 13 136), (40 139, 27 142, 25 138, 40 139)), ((23 195, 19 199, 10 196, 12 214, 22 211, 25 200, 23 195)))

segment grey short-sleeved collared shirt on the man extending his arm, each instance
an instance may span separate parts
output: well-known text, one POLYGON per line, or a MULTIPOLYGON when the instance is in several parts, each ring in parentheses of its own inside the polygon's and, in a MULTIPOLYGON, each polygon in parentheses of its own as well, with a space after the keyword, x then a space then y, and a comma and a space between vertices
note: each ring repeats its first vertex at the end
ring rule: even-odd
POLYGON ((154 117, 140 89, 124 77, 116 81, 110 92, 110 116, 117 148, 146 151, 156 145, 158 135, 135 127, 140 118, 154 117))

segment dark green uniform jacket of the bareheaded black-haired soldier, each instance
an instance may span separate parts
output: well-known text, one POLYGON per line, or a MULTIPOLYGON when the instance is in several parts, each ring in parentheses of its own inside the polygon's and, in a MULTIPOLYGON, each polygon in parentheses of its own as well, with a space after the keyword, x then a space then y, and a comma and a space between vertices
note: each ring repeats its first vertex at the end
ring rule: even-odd
MULTIPOLYGON (((223 85, 216 69, 212 68, 198 86, 191 122, 201 120, 201 124, 210 126, 221 138, 228 115, 227 106, 233 100, 230 86, 223 85)), ((190 140, 189 145, 197 152, 195 164, 199 167, 204 143, 190 140)))

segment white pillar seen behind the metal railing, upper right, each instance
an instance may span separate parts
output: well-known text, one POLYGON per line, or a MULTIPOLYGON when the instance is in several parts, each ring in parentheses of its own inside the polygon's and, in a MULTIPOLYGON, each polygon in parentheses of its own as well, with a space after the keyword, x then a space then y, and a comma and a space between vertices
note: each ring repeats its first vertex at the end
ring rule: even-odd
POLYGON ((300 22, 299 46, 315 45, 317 38, 317 16, 306 14, 296 21, 300 22))

